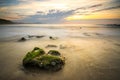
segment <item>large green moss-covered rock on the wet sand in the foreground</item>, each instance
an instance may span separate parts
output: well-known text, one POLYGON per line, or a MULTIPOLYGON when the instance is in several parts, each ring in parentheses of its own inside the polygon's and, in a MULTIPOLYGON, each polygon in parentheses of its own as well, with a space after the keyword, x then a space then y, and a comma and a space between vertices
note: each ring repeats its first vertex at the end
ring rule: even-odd
POLYGON ((28 52, 23 59, 23 66, 30 68, 45 69, 51 71, 60 70, 65 64, 65 59, 52 52, 58 52, 55 50, 50 50, 50 53, 45 54, 43 49, 35 47, 31 52, 28 52))

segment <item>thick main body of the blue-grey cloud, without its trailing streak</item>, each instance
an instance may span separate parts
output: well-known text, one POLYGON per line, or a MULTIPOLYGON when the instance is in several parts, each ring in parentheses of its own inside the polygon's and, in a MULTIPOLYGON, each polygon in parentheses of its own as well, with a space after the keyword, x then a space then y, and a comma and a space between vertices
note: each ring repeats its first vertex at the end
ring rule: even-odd
POLYGON ((40 11, 37 11, 35 15, 26 17, 22 21, 28 22, 42 22, 42 23, 62 23, 64 18, 72 15, 73 10, 70 11, 59 11, 59 10, 49 10, 48 14, 42 15, 40 11))

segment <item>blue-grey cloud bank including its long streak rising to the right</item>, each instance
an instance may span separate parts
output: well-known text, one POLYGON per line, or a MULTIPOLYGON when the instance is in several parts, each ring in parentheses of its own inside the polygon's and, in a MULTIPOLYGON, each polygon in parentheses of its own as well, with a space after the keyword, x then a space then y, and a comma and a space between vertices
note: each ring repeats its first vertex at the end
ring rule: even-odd
MULTIPOLYGON (((48 10, 47 13, 44 11, 37 11, 35 15, 29 16, 25 18, 23 21, 28 21, 28 22, 33 22, 33 21, 39 21, 42 23, 61 23, 65 21, 65 18, 73 15, 76 13, 77 10, 84 10, 88 8, 94 8, 94 7, 99 7, 101 4, 95 4, 95 5, 90 5, 90 6, 85 6, 85 7, 80 7, 68 11, 61 11, 61 10, 56 10, 56 9, 50 9, 48 10)), ((79 13, 79 15, 89 15, 89 13, 79 13)))

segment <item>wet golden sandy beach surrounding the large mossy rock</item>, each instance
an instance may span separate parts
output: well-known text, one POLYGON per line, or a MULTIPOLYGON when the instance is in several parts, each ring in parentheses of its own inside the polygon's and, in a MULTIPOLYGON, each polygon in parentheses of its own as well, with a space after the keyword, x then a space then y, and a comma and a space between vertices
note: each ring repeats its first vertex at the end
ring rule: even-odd
MULTIPOLYGON (((33 38, 18 42, 21 36, 29 34, 29 30, 24 35, 17 35, 15 39, 9 38, 10 40, 6 41, 1 39, 0 80, 120 79, 120 29, 80 29, 79 27, 67 27, 63 28, 63 30, 51 29, 53 30, 51 31, 53 32, 52 34, 49 34, 49 30, 47 29, 46 31, 45 29, 44 31, 46 32, 43 31, 43 34, 46 33, 45 37, 39 39, 33 38), (51 40, 49 36, 55 36, 57 39, 51 40), (57 47, 46 48, 47 45, 56 45, 57 47), (51 49, 60 51, 66 58, 64 68, 58 72, 29 71, 24 69, 22 59, 34 47, 45 49, 46 52, 51 49)), ((41 31, 38 30, 38 32, 41 31)), ((36 34, 38 33, 36 32, 36 34)), ((40 34, 43 35, 42 33, 40 34)))

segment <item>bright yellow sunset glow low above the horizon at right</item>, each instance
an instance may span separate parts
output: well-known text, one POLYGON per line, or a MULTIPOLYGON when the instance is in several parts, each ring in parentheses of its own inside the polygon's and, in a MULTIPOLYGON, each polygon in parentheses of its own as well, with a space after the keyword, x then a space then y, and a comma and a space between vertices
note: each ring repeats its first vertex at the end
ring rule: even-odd
POLYGON ((92 13, 88 15, 71 15, 64 18, 67 21, 72 20, 81 20, 81 19, 119 19, 120 18, 120 11, 116 10, 108 10, 102 11, 97 13, 92 13))

